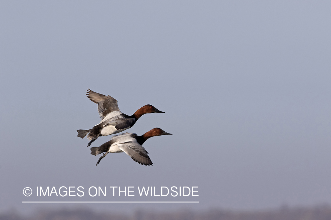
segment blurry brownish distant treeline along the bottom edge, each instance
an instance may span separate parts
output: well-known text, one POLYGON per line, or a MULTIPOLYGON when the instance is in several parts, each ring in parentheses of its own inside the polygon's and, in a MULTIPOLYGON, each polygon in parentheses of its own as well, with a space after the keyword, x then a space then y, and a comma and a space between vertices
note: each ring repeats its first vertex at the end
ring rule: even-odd
POLYGON ((132 215, 97 213, 86 209, 39 211, 29 217, 17 213, 1 213, 0 220, 331 220, 329 205, 314 208, 283 206, 269 211, 136 211, 132 215))

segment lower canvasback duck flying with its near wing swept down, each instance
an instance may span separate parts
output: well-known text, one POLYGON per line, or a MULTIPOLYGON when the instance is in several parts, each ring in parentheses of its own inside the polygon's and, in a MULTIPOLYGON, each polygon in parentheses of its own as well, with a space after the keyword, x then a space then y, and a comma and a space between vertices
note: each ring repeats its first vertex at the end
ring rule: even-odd
POLYGON ((102 144, 99 147, 91 147, 91 154, 98 155, 103 152, 106 152, 101 156, 96 164, 96 166, 100 163, 100 160, 104 158, 108 153, 120 153, 125 152, 129 155, 134 161, 141 165, 149 166, 153 163, 148 156, 147 151, 141 145, 143 143, 154 136, 160 135, 172 135, 166 133, 161 128, 153 128, 149 132, 146 132, 142 136, 138 136, 135 133, 123 133, 121 135, 116 135, 110 139, 110 141, 102 144))

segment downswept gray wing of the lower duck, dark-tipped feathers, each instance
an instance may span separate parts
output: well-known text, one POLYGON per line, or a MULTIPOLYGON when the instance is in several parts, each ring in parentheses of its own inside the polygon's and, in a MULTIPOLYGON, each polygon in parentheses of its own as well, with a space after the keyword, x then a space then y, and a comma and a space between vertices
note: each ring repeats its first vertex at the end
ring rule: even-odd
POLYGON ((119 149, 129 155, 135 162, 141 165, 153 166, 153 163, 149 158, 147 151, 137 141, 130 141, 117 145, 119 149))

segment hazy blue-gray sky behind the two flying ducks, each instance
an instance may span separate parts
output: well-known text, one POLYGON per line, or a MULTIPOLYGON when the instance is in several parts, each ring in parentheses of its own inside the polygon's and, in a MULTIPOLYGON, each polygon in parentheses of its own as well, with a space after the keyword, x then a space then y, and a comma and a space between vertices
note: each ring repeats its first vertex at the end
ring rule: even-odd
MULTIPOLYGON (((264 209, 331 203, 328 1, 1 1, 0 211, 264 209), (87 88, 172 136, 99 158, 87 88), (199 197, 25 197, 24 187, 198 186, 199 197), (199 201, 199 204, 22 204, 199 201)), ((111 136, 100 137, 99 146, 111 136)), ((107 189, 110 193, 110 189, 107 189)))

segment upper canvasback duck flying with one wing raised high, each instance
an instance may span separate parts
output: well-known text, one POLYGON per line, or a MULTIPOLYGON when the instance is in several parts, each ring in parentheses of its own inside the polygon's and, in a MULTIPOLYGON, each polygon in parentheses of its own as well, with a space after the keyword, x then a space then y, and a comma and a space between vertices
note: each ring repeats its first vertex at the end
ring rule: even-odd
POLYGON ((138 118, 147 113, 165 113, 152 105, 145 105, 134 112, 133 115, 126 115, 118 109, 117 100, 110 95, 105 96, 92 90, 87 90, 87 97, 94 103, 98 104, 98 112, 101 117, 101 122, 89 130, 77 130, 79 138, 87 138, 90 140, 87 147, 101 136, 107 136, 122 132, 131 128, 138 118))

